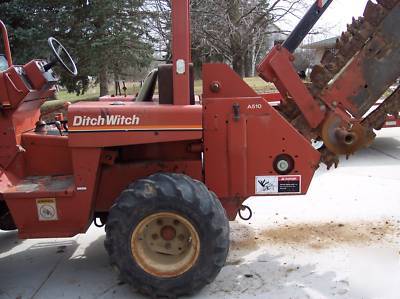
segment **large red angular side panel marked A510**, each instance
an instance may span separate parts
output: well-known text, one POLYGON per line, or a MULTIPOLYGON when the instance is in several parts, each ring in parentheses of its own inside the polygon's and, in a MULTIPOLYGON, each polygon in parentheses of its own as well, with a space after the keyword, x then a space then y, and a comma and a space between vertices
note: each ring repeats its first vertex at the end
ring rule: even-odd
POLYGON ((203 72, 205 180, 232 205, 230 218, 250 196, 307 193, 319 152, 228 66, 203 72), (294 161, 285 175, 276 169, 280 156, 294 161))

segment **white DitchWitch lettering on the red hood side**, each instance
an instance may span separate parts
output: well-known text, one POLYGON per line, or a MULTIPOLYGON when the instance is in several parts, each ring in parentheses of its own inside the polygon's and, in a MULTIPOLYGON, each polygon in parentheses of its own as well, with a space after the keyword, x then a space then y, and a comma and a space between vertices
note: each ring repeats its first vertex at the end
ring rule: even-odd
POLYGON ((106 117, 75 116, 74 127, 97 127, 97 126, 138 126, 140 117, 133 115, 131 117, 122 115, 107 115, 106 117))

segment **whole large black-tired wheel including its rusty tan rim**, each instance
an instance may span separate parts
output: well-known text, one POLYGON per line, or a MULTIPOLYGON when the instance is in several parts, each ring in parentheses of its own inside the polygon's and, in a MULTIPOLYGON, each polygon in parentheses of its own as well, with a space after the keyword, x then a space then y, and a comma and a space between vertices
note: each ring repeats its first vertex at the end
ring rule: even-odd
POLYGON ((229 222, 207 187, 182 174, 131 184, 111 208, 105 247, 122 281, 176 298, 214 281, 229 251, 229 222))

